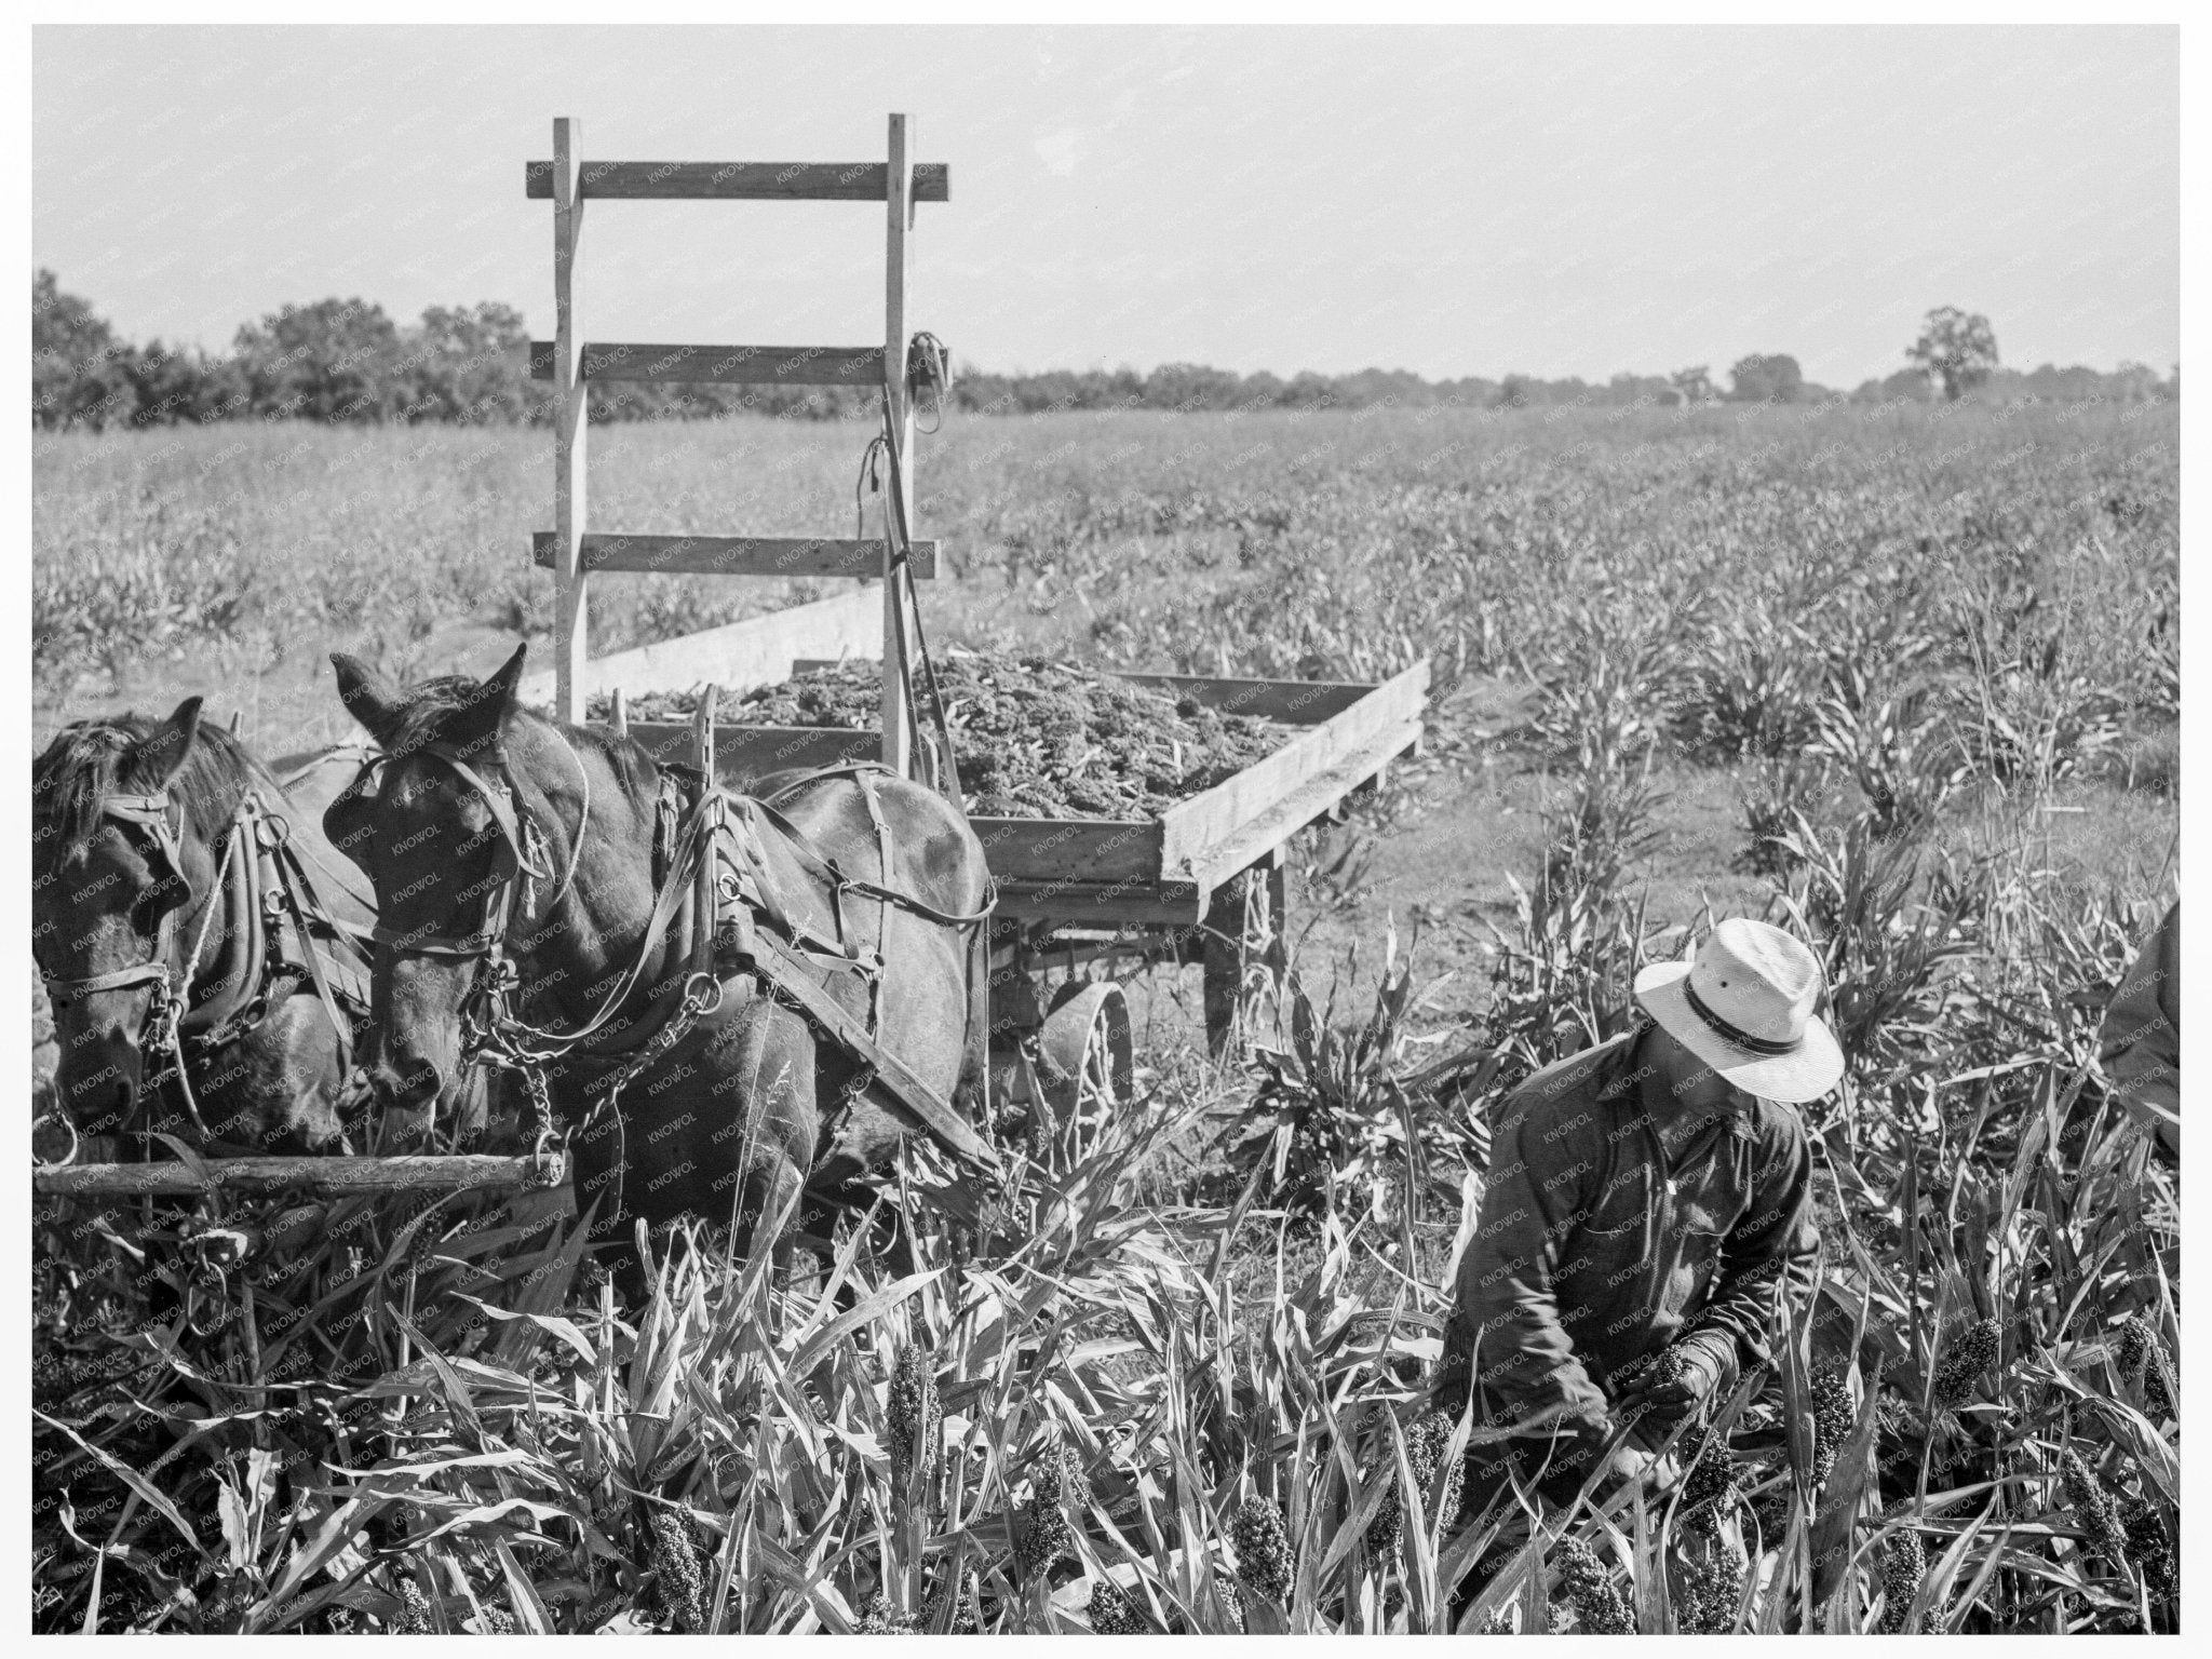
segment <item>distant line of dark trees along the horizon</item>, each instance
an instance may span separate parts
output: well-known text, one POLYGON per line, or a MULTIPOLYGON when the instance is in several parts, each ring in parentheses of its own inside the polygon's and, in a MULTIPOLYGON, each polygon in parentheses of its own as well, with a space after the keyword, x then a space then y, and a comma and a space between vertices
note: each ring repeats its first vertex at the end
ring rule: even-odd
MULTIPOLYGON (((2112 374, 2048 363, 2033 374, 1997 365, 1989 319, 1955 307, 1929 312, 1907 349, 1909 367, 1867 380, 1854 403, 1986 396, 1997 400, 2179 398, 2181 369, 2161 380, 2141 363, 2112 374)), ((1825 403, 1838 392, 1803 376, 1794 356, 1759 352, 1728 369, 1723 389, 1708 365, 1668 376, 1615 374, 1606 383, 1425 380, 1405 369, 1358 374, 1232 374, 1199 363, 1137 369, 1046 369, 989 374, 958 369, 949 407, 971 414, 1055 409, 1369 409, 1389 407, 1559 407, 1683 403, 1825 403)), ((752 409, 799 418, 865 416, 874 394, 860 387, 717 387, 595 383, 593 420, 688 420, 752 409)), ((131 345, 66 294, 51 270, 31 279, 31 425, 133 427, 234 418, 296 418, 363 425, 546 425, 551 387, 529 378, 529 330, 511 305, 431 305, 409 327, 380 305, 325 299, 285 305, 248 323, 228 356, 161 341, 131 345)))

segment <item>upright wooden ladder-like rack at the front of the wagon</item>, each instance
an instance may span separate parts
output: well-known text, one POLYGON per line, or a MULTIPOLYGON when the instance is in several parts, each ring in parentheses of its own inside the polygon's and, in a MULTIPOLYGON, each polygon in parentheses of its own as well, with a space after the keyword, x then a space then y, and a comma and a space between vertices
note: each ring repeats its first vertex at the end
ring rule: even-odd
MULTIPOLYGON (((531 341, 531 376, 553 380, 553 531, 531 538, 531 557, 553 568, 555 719, 584 723, 586 624, 593 571, 664 575, 841 575, 883 577, 883 761, 914 774, 911 710, 898 606, 905 580, 883 542, 790 535, 624 535, 584 529, 584 434, 591 380, 681 380, 710 385, 883 387, 889 438, 898 447, 898 509, 914 524, 914 392, 907 383, 909 237, 914 206, 947 201, 951 170, 911 159, 914 124, 891 115, 885 161, 582 161, 582 126, 553 122, 553 159, 524 164, 524 195, 553 204, 555 338, 531 341), (584 341, 577 325, 575 254, 584 204, 617 201, 883 201, 883 345, 635 345, 584 341)), ((891 504, 885 507, 891 511, 891 504)), ((936 575, 938 544, 911 542, 907 577, 936 575)))

